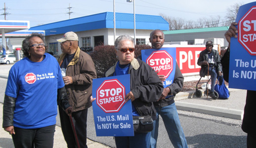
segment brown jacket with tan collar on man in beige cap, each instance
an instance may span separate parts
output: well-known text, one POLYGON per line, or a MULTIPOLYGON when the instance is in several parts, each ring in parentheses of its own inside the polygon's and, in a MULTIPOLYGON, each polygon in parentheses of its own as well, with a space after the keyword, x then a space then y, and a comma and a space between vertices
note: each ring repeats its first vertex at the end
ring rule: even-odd
MULTIPOLYGON (((61 54, 58 62, 62 65, 66 54, 61 54)), ((92 106, 90 97, 92 96, 92 83, 96 78, 96 70, 92 57, 82 51, 79 47, 74 58, 66 68, 66 76, 71 76, 73 83, 65 85, 69 104, 73 111, 79 111, 92 106)))

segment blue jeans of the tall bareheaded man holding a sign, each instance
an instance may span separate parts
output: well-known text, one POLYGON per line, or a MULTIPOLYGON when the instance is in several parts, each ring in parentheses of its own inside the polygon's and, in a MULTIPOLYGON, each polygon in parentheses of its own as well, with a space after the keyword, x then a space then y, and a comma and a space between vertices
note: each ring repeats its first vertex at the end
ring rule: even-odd
POLYGON ((154 129, 151 132, 151 148, 157 148, 159 115, 162 117, 163 123, 173 147, 188 148, 175 103, 164 107, 156 107, 156 110, 157 120, 154 121, 154 129))

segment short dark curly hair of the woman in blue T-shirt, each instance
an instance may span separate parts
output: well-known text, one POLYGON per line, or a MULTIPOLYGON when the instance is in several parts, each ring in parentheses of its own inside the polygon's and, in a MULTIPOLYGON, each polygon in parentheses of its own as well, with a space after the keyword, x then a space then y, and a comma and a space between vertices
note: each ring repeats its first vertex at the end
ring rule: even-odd
MULTIPOLYGON (((39 37, 40 39, 42 39, 43 43, 45 43, 44 37, 42 34, 40 33, 32 33, 31 35, 27 36, 23 41, 22 41, 22 51, 23 54, 27 57, 30 57, 29 55, 29 50, 30 50, 30 39, 32 37, 39 37)), ((45 50, 47 50, 47 44, 45 45, 45 50)))

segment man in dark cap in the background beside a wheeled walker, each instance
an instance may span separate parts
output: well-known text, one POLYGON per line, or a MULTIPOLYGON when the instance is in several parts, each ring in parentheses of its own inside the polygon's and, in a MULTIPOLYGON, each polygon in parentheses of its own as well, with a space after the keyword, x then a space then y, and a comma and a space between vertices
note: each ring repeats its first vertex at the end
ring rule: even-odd
MULTIPOLYGON (((221 57, 217 50, 213 49, 213 42, 207 41, 205 44, 206 49, 200 52, 199 58, 197 60, 197 65, 201 66, 201 70, 207 69, 209 66, 209 74, 211 75, 211 91, 209 92, 209 96, 213 99, 217 99, 217 96, 214 94, 214 85, 216 83, 216 78, 219 78, 220 84, 223 83, 223 71, 221 64, 221 57), (217 74, 218 72, 218 74, 217 74)), ((207 75, 208 72, 204 73, 200 76, 207 75)))

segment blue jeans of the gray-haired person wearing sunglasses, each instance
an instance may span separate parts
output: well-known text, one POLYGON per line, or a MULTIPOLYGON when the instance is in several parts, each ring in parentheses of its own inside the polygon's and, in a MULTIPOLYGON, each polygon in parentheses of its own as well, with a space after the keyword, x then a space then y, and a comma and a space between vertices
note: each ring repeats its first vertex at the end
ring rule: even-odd
POLYGON ((117 148, 150 148, 150 135, 148 133, 134 133, 134 136, 115 137, 117 148))

